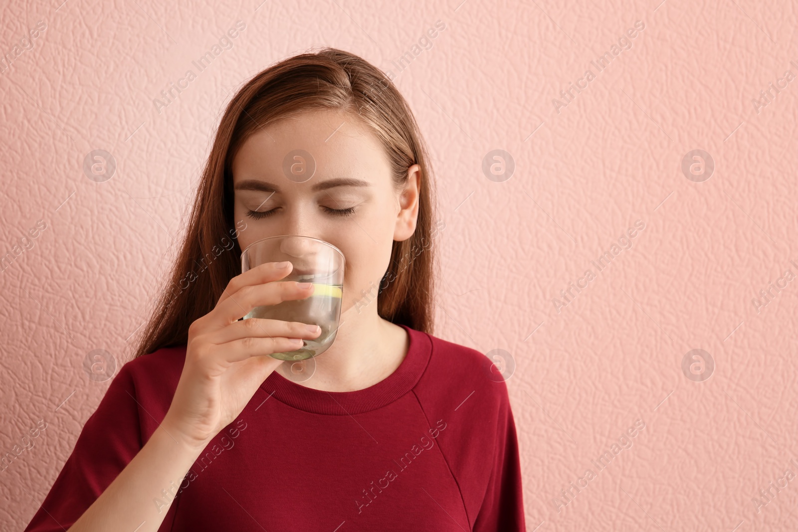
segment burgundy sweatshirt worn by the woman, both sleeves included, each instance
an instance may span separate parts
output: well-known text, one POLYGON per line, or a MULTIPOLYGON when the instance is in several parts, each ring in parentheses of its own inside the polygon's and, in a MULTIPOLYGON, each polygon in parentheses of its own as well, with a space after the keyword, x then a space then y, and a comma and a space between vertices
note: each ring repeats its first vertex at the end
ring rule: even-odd
MULTIPOLYGON (((401 326, 405 360, 369 388, 323 392, 272 372, 153 499, 159 530, 525 530, 504 380, 476 349, 401 326)), ((101 495, 164 419, 185 354, 120 368, 26 530, 68 529, 101 495)))

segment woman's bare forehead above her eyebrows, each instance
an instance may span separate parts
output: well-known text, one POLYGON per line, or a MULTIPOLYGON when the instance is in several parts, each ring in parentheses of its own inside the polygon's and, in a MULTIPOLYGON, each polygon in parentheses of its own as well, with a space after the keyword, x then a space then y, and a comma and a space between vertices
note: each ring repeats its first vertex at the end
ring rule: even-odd
POLYGON ((284 118, 249 136, 232 161, 233 180, 271 176, 287 181, 284 168, 297 150, 315 165, 307 183, 330 177, 375 182, 390 171, 385 149, 368 126, 350 113, 323 110, 284 118))

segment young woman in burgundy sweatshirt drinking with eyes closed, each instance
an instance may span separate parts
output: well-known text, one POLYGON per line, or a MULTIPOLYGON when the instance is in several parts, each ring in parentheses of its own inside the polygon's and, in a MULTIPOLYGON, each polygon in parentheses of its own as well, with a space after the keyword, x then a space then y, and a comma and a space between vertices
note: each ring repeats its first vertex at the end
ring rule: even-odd
POLYGON ((323 49, 247 82, 136 357, 26 530, 525 530, 507 386, 431 333, 430 177, 408 105, 361 57, 323 49), (302 183, 284 173, 296 149, 315 164, 302 183), (317 328, 239 319, 310 295, 279 282, 290 263, 240 273, 241 250, 279 234, 346 258, 310 378, 268 355, 317 328))

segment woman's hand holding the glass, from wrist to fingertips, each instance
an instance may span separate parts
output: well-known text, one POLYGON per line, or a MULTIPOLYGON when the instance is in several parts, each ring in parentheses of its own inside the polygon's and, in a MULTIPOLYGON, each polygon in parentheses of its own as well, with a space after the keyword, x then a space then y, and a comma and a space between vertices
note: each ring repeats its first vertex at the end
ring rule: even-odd
POLYGON ((241 413, 255 390, 282 361, 268 355, 294 351, 318 337, 318 325, 248 318, 260 305, 303 299, 312 283, 276 282, 293 269, 267 262, 230 280, 211 312, 188 328, 186 361, 164 428, 190 447, 203 449, 241 413), (302 287, 306 285, 306 287, 302 287))

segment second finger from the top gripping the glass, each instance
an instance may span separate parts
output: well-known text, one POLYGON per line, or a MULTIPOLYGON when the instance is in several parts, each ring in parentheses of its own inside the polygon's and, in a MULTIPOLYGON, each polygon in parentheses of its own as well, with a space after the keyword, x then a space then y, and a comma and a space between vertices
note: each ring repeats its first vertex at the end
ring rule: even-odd
POLYGON ((295 281, 243 286, 207 314, 208 323, 216 327, 231 325, 256 306, 278 305, 282 301, 309 298, 313 290, 313 283, 295 281))

